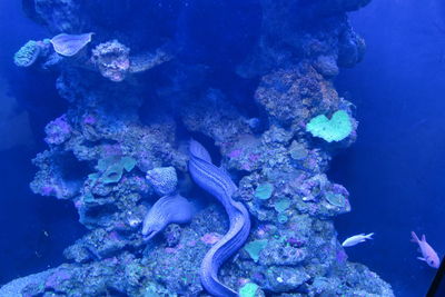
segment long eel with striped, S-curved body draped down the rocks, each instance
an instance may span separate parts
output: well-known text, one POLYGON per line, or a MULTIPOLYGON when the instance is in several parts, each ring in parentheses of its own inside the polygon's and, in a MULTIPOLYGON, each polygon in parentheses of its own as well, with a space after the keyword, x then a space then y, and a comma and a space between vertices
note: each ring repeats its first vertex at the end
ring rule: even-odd
POLYGON ((250 218, 246 207, 231 199, 237 190, 229 175, 211 164, 210 155, 197 141, 190 141, 190 175, 195 182, 222 204, 229 216, 227 234, 215 244, 204 257, 200 278, 204 288, 217 297, 231 297, 238 294, 218 280, 218 270, 225 260, 234 255, 246 241, 250 231, 250 218))

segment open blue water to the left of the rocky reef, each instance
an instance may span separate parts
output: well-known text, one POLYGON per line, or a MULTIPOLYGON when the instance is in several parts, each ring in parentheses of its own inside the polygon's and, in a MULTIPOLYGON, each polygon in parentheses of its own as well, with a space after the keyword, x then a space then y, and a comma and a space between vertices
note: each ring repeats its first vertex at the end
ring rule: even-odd
POLYGON ((66 103, 55 90, 55 77, 20 71, 11 57, 23 40, 44 38, 46 32, 24 17, 20 1, 0 1, 0 31, 3 32, 0 38, 0 109, 6 110, 12 100, 16 101, 14 108, 2 119, 0 136, 3 148, 0 152, 0 254, 3 255, 0 284, 4 284, 60 265, 63 249, 79 238, 83 229, 77 224, 78 215, 71 204, 33 195, 29 189, 36 171, 31 159, 46 148, 43 128, 63 112, 66 103), (7 97, 7 93, 13 96, 7 97), (4 123, 26 110, 30 127, 23 121, 12 127, 4 123), (20 133, 23 136, 16 139, 20 133))

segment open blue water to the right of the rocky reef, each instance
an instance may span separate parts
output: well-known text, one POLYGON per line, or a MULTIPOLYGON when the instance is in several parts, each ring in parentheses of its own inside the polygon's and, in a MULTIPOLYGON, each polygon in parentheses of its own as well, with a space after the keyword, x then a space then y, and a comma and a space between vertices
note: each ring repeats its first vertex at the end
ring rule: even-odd
POLYGON ((352 192, 340 236, 376 232, 350 249, 399 296, 422 296, 435 271, 416 259, 411 230, 445 253, 445 13, 438 1, 373 1, 353 16, 365 60, 343 70, 340 92, 357 106, 358 139, 333 164, 352 192))

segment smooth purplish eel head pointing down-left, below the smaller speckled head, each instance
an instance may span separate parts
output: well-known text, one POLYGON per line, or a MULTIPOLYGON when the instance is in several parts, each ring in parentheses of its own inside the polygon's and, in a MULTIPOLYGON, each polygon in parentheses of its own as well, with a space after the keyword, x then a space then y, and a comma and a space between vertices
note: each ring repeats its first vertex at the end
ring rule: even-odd
POLYGON ((179 194, 164 196, 157 200, 144 219, 142 235, 146 240, 164 230, 167 225, 189 222, 192 217, 191 204, 179 194))

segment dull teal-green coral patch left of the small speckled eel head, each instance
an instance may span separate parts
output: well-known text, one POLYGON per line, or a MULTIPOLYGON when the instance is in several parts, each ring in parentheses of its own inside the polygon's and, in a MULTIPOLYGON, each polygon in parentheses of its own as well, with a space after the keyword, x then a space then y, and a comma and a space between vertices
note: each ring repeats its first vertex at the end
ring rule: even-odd
POLYGON ((123 170, 131 171, 136 166, 136 160, 131 157, 111 156, 98 161, 96 168, 99 172, 88 176, 89 179, 101 181, 102 184, 118 182, 122 178, 123 170))

